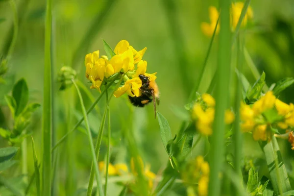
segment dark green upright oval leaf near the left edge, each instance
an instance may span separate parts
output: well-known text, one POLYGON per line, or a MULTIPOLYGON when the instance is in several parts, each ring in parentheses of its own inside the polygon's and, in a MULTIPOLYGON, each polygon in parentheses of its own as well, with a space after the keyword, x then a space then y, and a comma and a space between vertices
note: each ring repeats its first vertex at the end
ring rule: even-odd
POLYGON ((28 88, 25 79, 20 79, 13 86, 12 96, 16 102, 15 116, 18 116, 25 109, 28 101, 28 88))

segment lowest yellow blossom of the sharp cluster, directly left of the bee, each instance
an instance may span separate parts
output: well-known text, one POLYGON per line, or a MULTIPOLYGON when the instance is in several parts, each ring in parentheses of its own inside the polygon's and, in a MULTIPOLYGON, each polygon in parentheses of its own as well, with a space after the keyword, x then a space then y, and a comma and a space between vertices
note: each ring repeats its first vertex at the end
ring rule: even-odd
POLYGON ((119 98, 121 97, 124 93, 131 97, 139 97, 141 91, 139 88, 142 86, 142 81, 139 77, 135 77, 133 79, 127 80, 124 85, 120 88, 118 88, 114 92, 114 97, 119 98))

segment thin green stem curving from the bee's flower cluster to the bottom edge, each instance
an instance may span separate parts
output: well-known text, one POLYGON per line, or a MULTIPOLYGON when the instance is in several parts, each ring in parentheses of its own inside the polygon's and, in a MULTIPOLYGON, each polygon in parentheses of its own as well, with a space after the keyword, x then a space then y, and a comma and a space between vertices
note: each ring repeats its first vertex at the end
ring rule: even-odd
MULTIPOLYGON (((99 158, 100 145, 101 145, 101 141, 102 141, 102 135, 103 135, 103 129, 104 129, 104 124, 105 124, 108 105, 109 105, 109 102, 110 102, 111 98, 114 97, 113 93, 116 91, 118 86, 121 84, 121 82, 123 80, 123 76, 124 76, 124 74, 122 75, 119 82, 116 84, 110 98, 106 99, 106 101, 107 101, 106 102, 106 107, 105 107, 104 114, 103 114, 103 117, 102 117, 102 120, 101 120, 101 123, 100 123, 99 131, 98 131, 98 139, 97 139, 97 143, 96 143, 96 147, 95 147, 95 152, 96 152, 96 155, 97 155, 97 161, 98 161, 98 158, 99 158)), ((87 190, 87 196, 91 196, 92 189, 93 189, 94 172, 93 172, 92 168, 93 168, 93 163, 92 163, 91 172, 90 172, 90 179, 89 179, 89 186, 88 186, 88 190, 87 190)), ((99 183, 98 186, 102 186, 101 183, 99 183)))

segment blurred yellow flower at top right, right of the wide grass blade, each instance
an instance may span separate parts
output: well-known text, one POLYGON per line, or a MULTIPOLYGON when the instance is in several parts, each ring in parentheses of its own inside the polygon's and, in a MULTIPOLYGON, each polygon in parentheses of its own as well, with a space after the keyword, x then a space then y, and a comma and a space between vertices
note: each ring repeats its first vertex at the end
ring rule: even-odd
MULTIPOLYGON (((244 7, 244 2, 232 3, 231 25, 233 26, 233 29, 235 29, 238 24, 243 7, 244 7)), ((252 18, 253 18, 253 11, 252 11, 252 8, 250 6, 248 6, 247 12, 245 14, 245 17, 243 18, 241 26, 245 26, 247 24, 247 20, 252 19, 252 18)))

